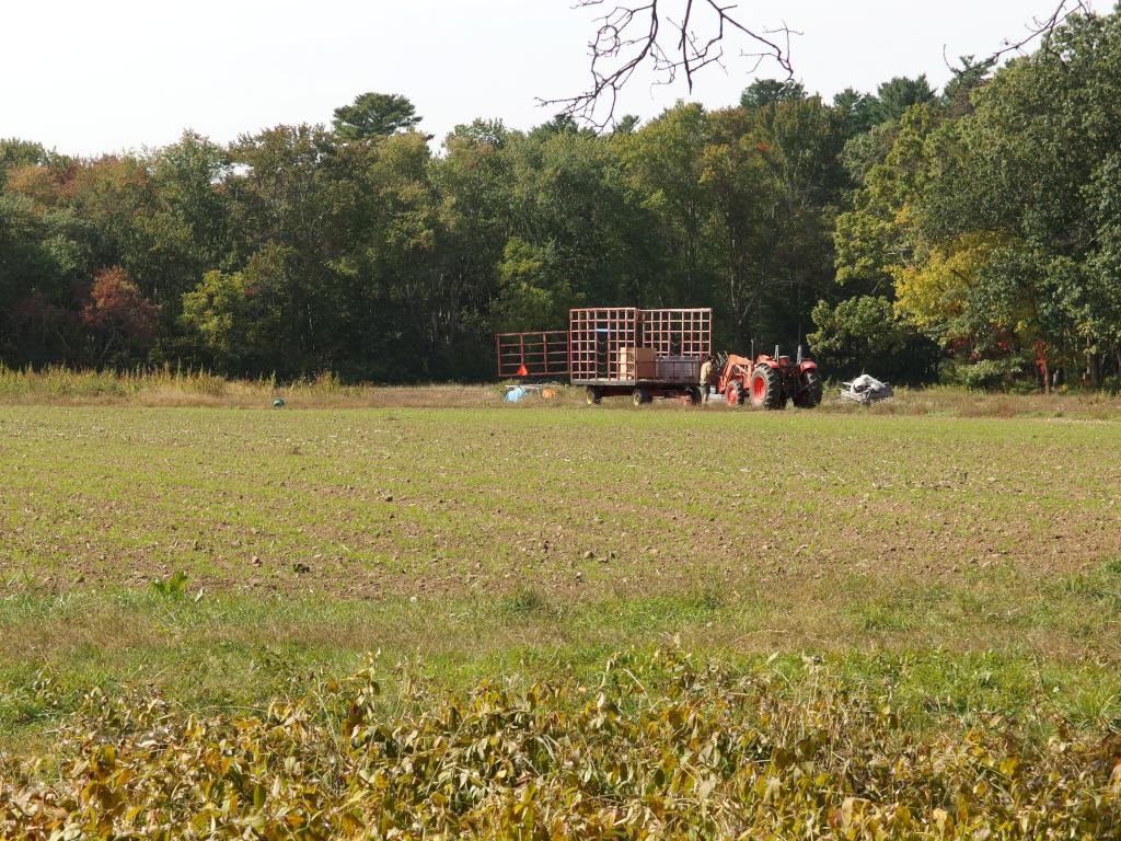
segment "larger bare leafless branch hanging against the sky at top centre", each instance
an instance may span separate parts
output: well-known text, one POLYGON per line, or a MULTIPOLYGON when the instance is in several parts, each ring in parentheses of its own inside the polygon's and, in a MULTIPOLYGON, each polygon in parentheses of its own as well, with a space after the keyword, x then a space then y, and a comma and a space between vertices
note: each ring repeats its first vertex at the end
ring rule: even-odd
MULTIPOLYGON (((740 52, 741 57, 756 59, 752 73, 765 61, 773 61, 787 78, 794 75, 791 30, 785 25, 777 29, 752 29, 735 16, 734 3, 720 0, 677 0, 682 13, 675 20, 665 9, 673 1, 620 4, 599 18, 595 36, 589 44, 592 57, 589 89, 566 99, 538 99, 538 103, 559 107, 560 113, 602 130, 613 124, 619 92, 639 67, 652 71, 655 84, 670 84, 684 73, 692 92, 700 71, 710 64, 724 65, 725 39, 732 37, 754 45, 752 52, 740 52)), ((574 8, 603 3, 604 0, 578 0, 574 8)))

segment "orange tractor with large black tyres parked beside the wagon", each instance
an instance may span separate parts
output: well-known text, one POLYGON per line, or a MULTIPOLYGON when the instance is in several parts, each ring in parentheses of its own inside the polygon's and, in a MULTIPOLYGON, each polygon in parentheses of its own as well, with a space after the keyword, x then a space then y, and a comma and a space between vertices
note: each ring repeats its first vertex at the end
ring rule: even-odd
POLYGON ((812 409, 822 401, 822 375, 816 362, 802 355, 802 348, 797 359, 780 355, 776 348, 773 357, 760 353, 753 362, 735 354, 719 361, 716 388, 729 406, 742 406, 749 399, 752 406, 785 409, 793 400, 799 408, 812 409))

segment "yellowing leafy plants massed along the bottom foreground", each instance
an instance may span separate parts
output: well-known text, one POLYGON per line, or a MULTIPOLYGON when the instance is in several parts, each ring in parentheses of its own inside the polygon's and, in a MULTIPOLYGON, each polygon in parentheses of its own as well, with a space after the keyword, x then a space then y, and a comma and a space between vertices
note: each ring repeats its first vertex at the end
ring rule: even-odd
MULTIPOLYGON (((446 694, 374 660, 259 715, 91 694, 57 782, 0 785, 4 838, 1117 838, 1121 740, 1016 722, 915 736, 890 688, 794 693, 679 651, 596 681, 446 694)), ((1059 722, 1060 723, 1060 722, 1059 722)))

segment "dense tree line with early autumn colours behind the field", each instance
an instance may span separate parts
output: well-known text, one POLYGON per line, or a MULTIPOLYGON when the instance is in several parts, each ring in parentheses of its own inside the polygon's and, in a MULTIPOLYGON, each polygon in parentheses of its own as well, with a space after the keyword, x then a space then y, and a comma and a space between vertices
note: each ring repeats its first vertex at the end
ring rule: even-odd
POLYGON ((493 376, 571 306, 712 306, 717 348, 971 386, 1121 373, 1121 15, 826 102, 760 80, 596 133, 368 93, 328 126, 76 158, 0 141, 0 362, 493 376))

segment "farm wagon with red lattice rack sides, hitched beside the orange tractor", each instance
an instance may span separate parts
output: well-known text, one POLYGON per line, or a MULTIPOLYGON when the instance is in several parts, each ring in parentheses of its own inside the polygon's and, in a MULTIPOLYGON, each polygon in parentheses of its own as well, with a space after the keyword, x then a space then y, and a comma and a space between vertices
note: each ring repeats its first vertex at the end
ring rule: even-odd
POLYGON ((589 307, 568 312, 568 330, 500 333, 501 379, 567 377, 587 403, 631 395, 701 401, 701 363, 712 351, 712 309, 589 307))

